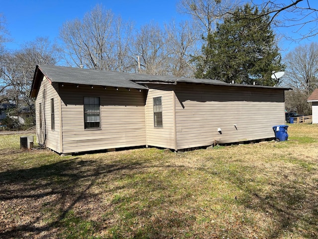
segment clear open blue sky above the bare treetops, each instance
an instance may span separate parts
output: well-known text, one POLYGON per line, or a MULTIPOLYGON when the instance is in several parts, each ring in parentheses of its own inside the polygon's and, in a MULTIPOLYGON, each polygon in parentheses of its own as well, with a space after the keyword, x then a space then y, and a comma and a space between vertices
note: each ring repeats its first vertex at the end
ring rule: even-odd
MULTIPOLYGON (((279 0, 280 2, 289 0, 279 0)), ((33 41, 36 37, 49 37, 53 42, 59 35, 59 29, 67 20, 82 18, 96 4, 101 3, 106 9, 111 9, 115 15, 120 15, 124 20, 131 20, 136 27, 150 23, 159 24, 170 22, 172 19, 185 19, 176 10, 178 0, 2 0, 0 13, 7 22, 7 30, 13 42, 7 43, 8 49, 18 49, 25 42, 33 41)), ((313 7, 318 8, 317 0, 310 0, 313 7)), ((281 14, 281 17, 284 15, 281 14)), ((292 28, 282 28, 279 33, 292 35, 292 28)), ((282 40, 282 54, 292 50, 299 44, 316 38, 291 43, 282 40)))

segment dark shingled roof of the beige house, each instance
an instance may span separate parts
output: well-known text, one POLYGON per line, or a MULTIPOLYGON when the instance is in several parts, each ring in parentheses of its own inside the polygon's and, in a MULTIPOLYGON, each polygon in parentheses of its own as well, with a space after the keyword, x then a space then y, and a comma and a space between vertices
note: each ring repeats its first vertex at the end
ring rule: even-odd
POLYGON ((177 84, 181 82, 222 85, 233 87, 255 87, 255 88, 271 88, 280 90, 290 90, 289 88, 276 88, 270 86, 229 84, 218 80, 211 79, 193 79, 185 77, 156 76, 137 73, 115 72, 105 70, 80 69, 63 66, 39 65, 35 69, 31 97, 36 96, 39 87, 39 79, 37 74, 40 70, 51 82, 72 83, 81 85, 124 87, 132 89, 148 89, 142 84, 177 84))

